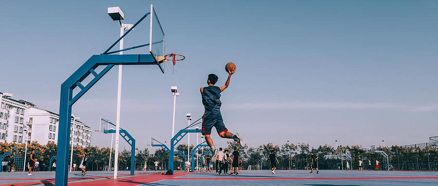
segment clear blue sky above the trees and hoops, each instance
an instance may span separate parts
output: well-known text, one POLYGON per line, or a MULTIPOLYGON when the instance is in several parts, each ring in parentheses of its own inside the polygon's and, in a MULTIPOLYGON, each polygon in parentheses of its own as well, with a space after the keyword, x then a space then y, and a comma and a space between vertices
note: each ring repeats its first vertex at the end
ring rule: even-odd
MULTIPOLYGON (((202 115, 199 88, 207 74, 224 84, 230 61, 237 72, 222 93, 222 116, 250 146, 290 140, 317 147, 338 140, 369 148, 383 139, 405 145, 438 135, 434 0, 3 1, 0 91, 58 113, 60 84, 119 35, 107 7, 120 6, 124 23, 134 23, 151 3, 166 34, 166 53, 186 60, 175 74, 167 63, 166 74, 155 66, 124 67, 121 125, 140 148, 150 136, 169 141, 170 86, 181 94, 180 129, 186 113, 202 115)), ((147 24, 126 37, 125 47, 148 42, 147 24)), ((101 116, 115 121, 116 97, 113 68, 73 114, 93 128, 101 116)), ((94 133, 92 145, 109 146, 110 135, 94 133)))

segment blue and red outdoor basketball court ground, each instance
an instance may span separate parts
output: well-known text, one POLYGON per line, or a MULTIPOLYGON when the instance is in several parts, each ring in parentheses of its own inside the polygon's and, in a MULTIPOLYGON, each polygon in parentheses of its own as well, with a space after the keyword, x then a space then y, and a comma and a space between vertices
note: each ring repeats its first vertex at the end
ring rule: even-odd
MULTIPOLYGON (((119 171, 118 179, 112 179, 110 171, 80 171, 69 173, 69 186, 437 186, 437 171, 345 171, 321 170, 309 174, 307 170, 243 170, 239 175, 215 175, 213 172, 176 171, 174 175, 155 171, 119 171)), ((24 172, 0 173, 0 186, 53 186, 55 172, 36 172, 28 176, 24 172)))

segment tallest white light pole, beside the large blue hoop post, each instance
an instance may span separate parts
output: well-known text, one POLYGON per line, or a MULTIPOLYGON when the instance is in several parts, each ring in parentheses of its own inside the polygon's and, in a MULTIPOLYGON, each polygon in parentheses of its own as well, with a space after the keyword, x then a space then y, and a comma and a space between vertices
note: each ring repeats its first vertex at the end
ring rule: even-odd
MULTIPOLYGON (((123 36, 125 30, 129 30, 133 24, 123 24, 122 20, 124 19, 124 14, 120 7, 110 7, 108 8, 108 15, 114 21, 119 21, 120 23, 120 37, 123 36)), ((123 38, 120 40, 119 49, 123 49, 123 38)), ((120 51, 119 54, 123 54, 123 51, 120 51)), ((116 118, 116 144, 114 148, 114 179, 117 179, 117 168, 118 168, 118 157, 119 157, 119 135, 120 135, 120 104, 122 100, 122 66, 119 65, 119 76, 118 76, 118 84, 117 84, 117 118, 116 118)))

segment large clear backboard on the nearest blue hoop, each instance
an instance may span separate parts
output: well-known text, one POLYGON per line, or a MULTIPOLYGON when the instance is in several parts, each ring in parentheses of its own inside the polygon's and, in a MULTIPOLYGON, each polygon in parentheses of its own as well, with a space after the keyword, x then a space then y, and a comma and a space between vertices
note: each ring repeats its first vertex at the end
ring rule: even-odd
POLYGON ((150 31, 149 31, 149 52, 155 58, 158 67, 164 73, 164 32, 155 13, 154 7, 150 5, 150 31))

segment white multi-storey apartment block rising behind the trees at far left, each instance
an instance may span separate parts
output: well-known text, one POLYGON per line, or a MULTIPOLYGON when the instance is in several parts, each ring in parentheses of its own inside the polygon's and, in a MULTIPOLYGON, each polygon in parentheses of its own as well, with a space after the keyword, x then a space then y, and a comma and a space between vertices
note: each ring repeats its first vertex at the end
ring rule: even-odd
MULTIPOLYGON (((17 101, 11 97, 12 94, 0 92, 0 142, 24 143, 28 139, 29 142, 37 141, 41 145, 57 143, 59 115, 38 108, 28 101, 17 101)), ((90 146, 91 131, 85 123, 72 117, 70 136, 74 146, 90 146)))

